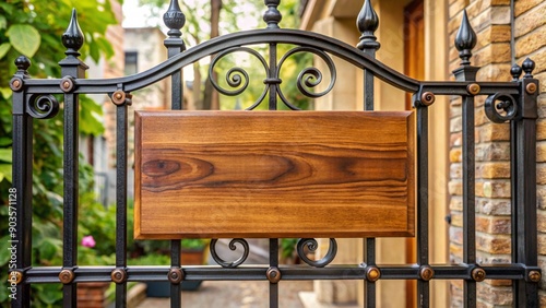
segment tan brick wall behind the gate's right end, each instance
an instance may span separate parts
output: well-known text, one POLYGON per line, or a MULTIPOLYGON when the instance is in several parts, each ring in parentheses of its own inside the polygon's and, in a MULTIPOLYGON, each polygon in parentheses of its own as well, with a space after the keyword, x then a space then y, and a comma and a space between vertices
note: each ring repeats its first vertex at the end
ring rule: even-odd
MULTIPOLYGON (((509 0, 450 0, 448 32, 450 35, 450 69, 459 67, 453 40, 466 9, 477 34, 473 66, 482 67, 479 81, 509 81, 510 1, 509 0)), ((536 61, 535 78, 541 80, 538 120, 538 225, 539 265, 546 272, 546 0, 515 1, 515 57, 521 62, 531 57, 536 61)), ((509 126, 494 125, 484 114, 485 97, 476 97, 476 248, 482 264, 510 262, 510 165, 509 126)), ((450 108, 451 131, 451 194, 450 259, 462 262, 462 137, 461 99, 453 98, 450 108)), ((546 288, 546 281, 541 284, 546 288)), ((462 282, 452 282, 452 307, 462 306, 462 282)), ((478 283, 478 307, 505 307, 512 303, 510 281, 478 283)), ((541 293, 546 305, 546 293, 541 293)), ((543 306, 542 305, 542 306, 543 306)))

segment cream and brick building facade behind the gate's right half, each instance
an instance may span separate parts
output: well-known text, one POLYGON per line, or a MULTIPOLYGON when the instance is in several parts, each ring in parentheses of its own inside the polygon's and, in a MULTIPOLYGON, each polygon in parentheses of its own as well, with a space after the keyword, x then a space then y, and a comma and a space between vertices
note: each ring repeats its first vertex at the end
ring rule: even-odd
MULTIPOLYGON (((302 1, 301 28, 336 37, 356 46, 360 34, 355 21, 364 0, 302 1)), ((536 62, 535 78, 541 80, 537 181, 538 181, 538 256, 546 266, 546 1, 544 0, 377 0, 372 1, 379 15, 376 32, 381 48, 379 61, 419 80, 453 79, 451 71, 460 66, 454 37, 461 24, 463 10, 477 34, 473 49, 473 66, 480 67, 478 81, 510 81, 510 68, 521 64, 526 57, 536 62)), ((318 67, 321 64, 318 62, 318 67)), ((361 110, 363 75, 356 68, 336 62, 343 75, 332 91, 333 95, 317 99, 317 109, 361 110)), ((376 82, 377 110, 411 108, 406 94, 376 82)), ((476 97, 476 247, 482 264, 503 263, 510 260, 510 145, 509 126, 489 122, 484 112, 485 97, 476 97)), ((437 97, 430 108, 429 149, 429 229, 431 263, 462 262, 462 149, 461 100, 437 97), (440 98, 440 99, 439 99, 440 98)), ((361 240, 346 240, 340 245, 340 262, 361 262, 361 240)), ((411 239, 377 240, 378 263, 415 262, 411 239)), ((327 245, 328 247, 328 245, 327 245)), ((544 288, 544 280, 541 286, 544 288)), ((380 307, 413 307, 414 285, 404 281, 381 281, 380 307), (400 296, 392 296, 396 289, 400 296)), ((364 287, 335 282, 316 285, 318 299, 327 303, 363 303, 364 287), (343 296, 332 289, 344 291, 343 296)), ((546 297, 541 292, 543 305, 546 297)), ((506 307, 512 303, 510 282, 485 281, 478 284, 478 307, 506 307)), ((462 282, 431 283, 432 307, 461 307, 462 282)))

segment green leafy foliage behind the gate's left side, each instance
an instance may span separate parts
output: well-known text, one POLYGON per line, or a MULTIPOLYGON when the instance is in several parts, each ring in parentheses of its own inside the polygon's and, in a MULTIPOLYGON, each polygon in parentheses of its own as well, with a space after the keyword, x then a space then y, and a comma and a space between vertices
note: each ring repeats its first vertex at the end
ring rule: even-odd
MULTIPOLYGON (((91 57, 98 61, 100 56, 114 54, 105 39, 106 28, 116 24, 110 1, 102 0, 8 0, 0 2, 0 221, 8 222, 8 190, 11 187, 12 156, 12 116, 11 90, 9 81, 16 71, 14 60, 21 54, 31 58, 29 73, 34 78, 60 78, 58 62, 64 57, 66 48, 61 36, 70 21, 72 8, 79 12, 79 22, 84 31, 85 44, 82 59, 91 57)), ((58 97, 61 99, 62 97, 58 97)), ((104 128, 99 117, 102 108, 95 102, 81 96, 81 133, 99 134, 104 128)), ((62 264, 62 110, 49 120, 34 120, 34 165, 33 165, 33 265, 62 264)), ((87 235, 84 230, 96 232, 104 242, 115 236, 111 220, 108 221, 104 208, 95 203, 93 194, 92 168, 80 157, 80 237, 87 235), (95 222, 87 221, 87 211, 98 216, 95 222), (103 214, 99 214, 103 213, 103 214), (91 227, 100 223, 98 227, 91 227), (99 230, 102 233, 99 233, 99 230), (111 233, 110 233, 111 232, 111 233), (109 238, 105 235, 108 234, 109 238)), ((8 224, 0 224, 0 234, 8 235, 8 224)), ((80 238, 81 239, 81 238, 80 238)), ((0 238, 0 248, 5 246, 7 238, 0 238)), ((103 241, 99 242, 100 245, 103 241)), ((111 247, 109 247, 111 249, 111 247)), ((10 257, 8 250, 0 251, 0 266, 7 269, 10 257)), ((79 258, 82 263, 111 263, 111 251, 105 247, 96 249, 80 248, 79 258)), ((7 280, 2 271, 1 281, 7 280)), ((59 307, 62 299, 60 284, 36 284, 32 291, 33 307, 59 307)), ((7 307, 7 288, 0 288, 0 306, 7 307)))

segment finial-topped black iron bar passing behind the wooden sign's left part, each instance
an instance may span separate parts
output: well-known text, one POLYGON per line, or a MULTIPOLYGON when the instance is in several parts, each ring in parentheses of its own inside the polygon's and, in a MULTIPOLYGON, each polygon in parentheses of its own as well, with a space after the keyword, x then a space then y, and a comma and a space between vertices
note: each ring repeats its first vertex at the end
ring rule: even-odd
MULTIPOLYGON (((168 58, 173 58, 176 55, 186 50, 186 44, 183 43, 180 31, 185 23, 186 16, 180 10, 178 0, 170 0, 169 8, 167 12, 163 15, 163 21, 165 25, 169 28, 167 35, 168 37, 164 40, 164 45, 167 48, 168 58)), ((170 76, 170 104, 173 110, 181 110, 183 108, 183 79, 182 71, 179 70, 171 74, 170 76)), ((180 269, 180 254, 181 254, 181 242, 179 239, 174 239, 170 241, 170 268, 180 269)), ((182 287, 180 283, 170 284, 170 307, 179 308, 181 306, 181 292, 182 287)))

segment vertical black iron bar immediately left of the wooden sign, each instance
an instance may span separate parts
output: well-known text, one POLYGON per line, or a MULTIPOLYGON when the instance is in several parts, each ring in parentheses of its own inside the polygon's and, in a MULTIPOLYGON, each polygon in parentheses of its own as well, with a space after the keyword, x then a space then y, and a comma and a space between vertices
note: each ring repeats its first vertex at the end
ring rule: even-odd
MULTIPOLYGON (((126 104, 116 108, 116 268, 127 268, 127 128, 126 104)), ((127 307, 127 283, 116 284, 116 307, 127 307)))

